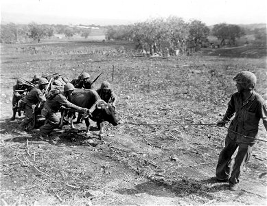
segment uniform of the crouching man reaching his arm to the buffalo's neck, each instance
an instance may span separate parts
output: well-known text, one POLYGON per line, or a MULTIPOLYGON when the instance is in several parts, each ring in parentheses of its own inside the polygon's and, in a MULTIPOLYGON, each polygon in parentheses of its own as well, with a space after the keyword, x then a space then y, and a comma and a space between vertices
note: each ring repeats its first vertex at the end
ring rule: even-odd
POLYGON ((42 114, 45 116, 46 121, 45 125, 40 127, 40 132, 49 135, 54 128, 58 127, 60 123, 60 119, 56 115, 59 111, 60 106, 66 106, 70 108, 74 108, 77 110, 81 110, 80 106, 76 106, 67 100, 65 95, 63 95, 60 91, 55 91, 56 94, 52 94, 52 98, 47 98, 45 102, 45 106, 42 110, 42 114))

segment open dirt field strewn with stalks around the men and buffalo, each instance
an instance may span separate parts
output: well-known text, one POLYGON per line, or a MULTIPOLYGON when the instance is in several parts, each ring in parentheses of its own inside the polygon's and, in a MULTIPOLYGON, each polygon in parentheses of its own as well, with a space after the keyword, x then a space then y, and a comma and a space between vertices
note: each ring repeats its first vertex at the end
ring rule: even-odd
MULTIPOLYGON (((83 41, 1 45, 1 205, 267 205, 265 142, 255 146, 241 190, 216 182, 225 128, 105 124, 100 141, 92 121, 89 140, 84 123, 45 139, 38 128, 18 129, 23 116, 10 122, 16 78, 32 80, 35 73, 71 80, 83 69, 92 79, 103 72, 95 88, 111 82, 117 117, 135 124, 215 124, 235 92, 232 77, 242 70, 256 74, 256 91, 267 99, 266 48, 253 48, 258 56, 246 58, 243 49, 231 51, 234 57, 206 51, 149 58, 133 48, 83 41)), ((262 122, 258 138, 266 140, 262 122)))

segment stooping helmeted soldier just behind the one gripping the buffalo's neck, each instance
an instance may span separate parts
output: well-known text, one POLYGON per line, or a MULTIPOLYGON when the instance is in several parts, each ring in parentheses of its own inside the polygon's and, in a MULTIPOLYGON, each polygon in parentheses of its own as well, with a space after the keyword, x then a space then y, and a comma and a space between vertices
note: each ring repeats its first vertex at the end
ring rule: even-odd
POLYGON ((40 78, 38 81, 38 86, 34 87, 26 96, 23 98, 23 102, 25 102, 25 106, 23 108, 25 112, 25 119, 19 125, 19 128, 25 129, 27 125, 32 121, 34 118, 34 110, 37 104, 40 102, 40 108, 43 108, 43 104, 45 103, 46 99, 43 95, 43 90, 47 86, 48 81, 45 78, 40 78))

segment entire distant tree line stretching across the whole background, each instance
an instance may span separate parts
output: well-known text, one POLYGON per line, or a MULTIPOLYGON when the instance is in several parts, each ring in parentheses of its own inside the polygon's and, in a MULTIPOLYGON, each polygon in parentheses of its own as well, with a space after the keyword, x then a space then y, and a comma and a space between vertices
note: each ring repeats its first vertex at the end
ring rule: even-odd
MULTIPOLYGON (((67 38, 72 38, 74 35, 88 38, 92 31, 90 27, 100 27, 100 25, 1 24, 1 43, 40 42, 41 39, 51 38, 54 34, 62 34, 67 38)), ((220 23, 207 27, 201 21, 186 22, 177 16, 101 28, 106 30, 106 40, 133 41, 138 49, 150 51, 151 54, 162 53, 165 49, 169 50, 170 54, 174 54, 176 49, 181 52, 195 50, 209 44, 208 36, 218 38, 220 45, 235 45, 236 39, 245 34, 253 36, 255 42, 258 41, 262 45, 266 44, 267 36, 266 26, 242 27, 220 23)))

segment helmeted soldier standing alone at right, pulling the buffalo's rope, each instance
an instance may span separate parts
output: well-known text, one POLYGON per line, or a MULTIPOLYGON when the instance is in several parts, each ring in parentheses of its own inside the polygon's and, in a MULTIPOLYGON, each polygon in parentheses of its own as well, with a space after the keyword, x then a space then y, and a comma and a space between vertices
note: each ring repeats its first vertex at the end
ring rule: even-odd
POLYGON ((241 71, 233 78, 237 92, 233 93, 228 104, 227 112, 217 126, 224 126, 231 117, 229 131, 225 139, 225 147, 220 152, 216 168, 216 177, 219 181, 228 181, 230 190, 238 190, 240 175, 244 164, 251 157, 253 146, 257 142, 259 120, 267 130, 267 104, 255 93, 257 78, 250 71, 241 71), (232 155, 238 147, 233 164, 232 155))

